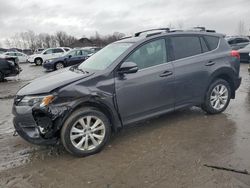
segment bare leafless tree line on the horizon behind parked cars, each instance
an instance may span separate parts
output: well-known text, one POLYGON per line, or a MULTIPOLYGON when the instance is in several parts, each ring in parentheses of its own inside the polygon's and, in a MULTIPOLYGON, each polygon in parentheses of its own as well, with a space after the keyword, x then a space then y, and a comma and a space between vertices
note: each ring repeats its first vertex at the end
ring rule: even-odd
MULTIPOLYGON (((114 32, 112 35, 100 35, 98 32, 88 39, 96 46, 103 47, 111 42, 121 39, 125 34, 114 32)), ((85 37, 83 37, 85 38, 85 37)), ((34 31, 25 31, 16 33, 5 40, 8 48, 31 49, 52 48, 58 46, 71 47, 78 39, 64 31, 58 31, 55 34, 35 33, 34 31)))

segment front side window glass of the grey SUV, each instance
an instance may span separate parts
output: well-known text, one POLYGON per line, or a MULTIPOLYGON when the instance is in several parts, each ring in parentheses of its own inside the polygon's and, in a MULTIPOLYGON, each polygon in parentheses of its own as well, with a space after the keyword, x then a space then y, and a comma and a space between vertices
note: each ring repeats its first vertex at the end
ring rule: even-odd
POLYGON ((139 47, 126 62, 134 62, 139 69, 152 67, 167 62, 165 39, 155 40, 139 47))

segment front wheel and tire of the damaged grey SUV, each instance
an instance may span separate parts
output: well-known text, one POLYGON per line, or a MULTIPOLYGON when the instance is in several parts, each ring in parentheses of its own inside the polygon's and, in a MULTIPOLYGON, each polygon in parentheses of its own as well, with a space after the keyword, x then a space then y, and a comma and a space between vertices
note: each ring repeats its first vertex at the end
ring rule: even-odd
POLYGON ((61 129, 63 146, 69 153, 77 157, 100 152, 108 142, 110 135, 109 119, 101 111, 92 107, 80 108, 73 112, 61 129))

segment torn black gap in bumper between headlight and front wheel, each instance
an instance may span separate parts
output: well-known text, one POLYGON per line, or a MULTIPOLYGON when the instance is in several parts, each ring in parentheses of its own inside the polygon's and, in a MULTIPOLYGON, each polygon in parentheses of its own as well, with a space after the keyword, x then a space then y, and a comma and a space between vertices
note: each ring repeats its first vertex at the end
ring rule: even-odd
POLYGON ((71 111, 72 108, 69 106, 49 105, 44 108, 34 107, 32 114, 39 127, 40 137, 44 139, 57 138, 56 133, 61 129, 66 114, 69 114, 71 111))

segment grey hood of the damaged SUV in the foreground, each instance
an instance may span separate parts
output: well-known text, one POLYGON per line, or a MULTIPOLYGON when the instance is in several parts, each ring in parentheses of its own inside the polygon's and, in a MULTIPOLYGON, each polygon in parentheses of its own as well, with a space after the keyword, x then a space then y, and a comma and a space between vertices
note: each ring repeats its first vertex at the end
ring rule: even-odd
POLYGON ((77 80, 89 77, 94 73, 73 72, 70 68, 62 69, 40 77, 21 88, 17 95, 38 95, 49 93, 59 87, 68 85, 77 80))

